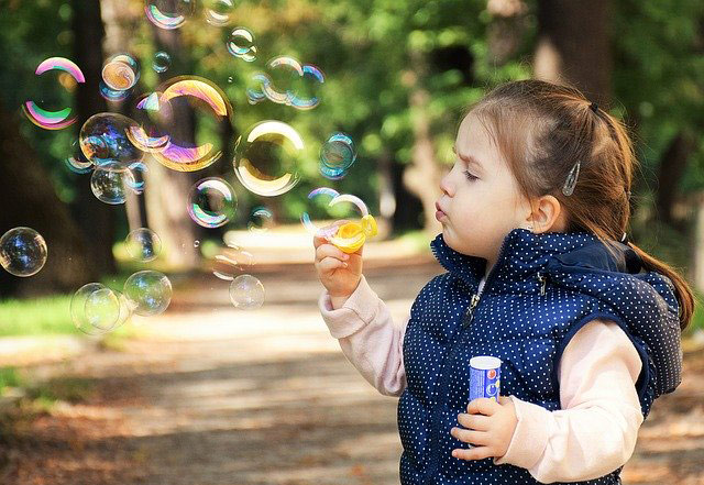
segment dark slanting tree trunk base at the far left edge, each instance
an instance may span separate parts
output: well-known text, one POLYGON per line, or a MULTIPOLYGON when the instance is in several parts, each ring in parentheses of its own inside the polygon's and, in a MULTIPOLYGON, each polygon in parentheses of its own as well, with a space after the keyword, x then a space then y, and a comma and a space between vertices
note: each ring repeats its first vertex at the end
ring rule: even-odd
MULTIPOLYGON (((86 257, 85 239, 68 207, 56 196, 51 177, 20 134, 16 120, 0 111, 0 235, 16 227, 37 231, 47 245, 46 264, 36 275, 20 278, 0 268, 0 297, 72 291, 96 280, 86 257)), ((97 202, 97 201, 96 201, 97 202)))

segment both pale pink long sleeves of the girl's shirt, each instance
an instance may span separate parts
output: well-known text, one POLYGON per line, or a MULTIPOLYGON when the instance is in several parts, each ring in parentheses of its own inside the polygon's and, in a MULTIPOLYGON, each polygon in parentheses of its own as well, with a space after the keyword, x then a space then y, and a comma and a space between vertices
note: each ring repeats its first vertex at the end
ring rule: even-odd
MULTIPOLYGON (((318 304, 352 365, 381 394, 400 396, 408 319, 395 323, 364 276, 341 308, 333 307, 327 291, 318 304)), ((549 411, 510 396, 518 422, 506 454, 494 463, 527 469, 542 483, 597 478, 618 469, 631 456, 644 421, 635 386, 641 367, 636 348, 616 323, 587 323, 559 363, 561 409, 549 411), (593 447, 595 441, 603 445, 593 447)))

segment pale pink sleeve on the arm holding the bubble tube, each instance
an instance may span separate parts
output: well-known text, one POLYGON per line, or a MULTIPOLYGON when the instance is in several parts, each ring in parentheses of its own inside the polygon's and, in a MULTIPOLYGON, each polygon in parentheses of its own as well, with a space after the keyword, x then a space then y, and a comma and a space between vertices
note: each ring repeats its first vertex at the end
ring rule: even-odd
POLYGON ((541 483, 606 475, 630 459, 644 421, 636 382, 642 362, 608 320, 593 320, 565 348, 559 367, 561 408, 510 396, 518 423, 497 465, 527 469, 541 483))

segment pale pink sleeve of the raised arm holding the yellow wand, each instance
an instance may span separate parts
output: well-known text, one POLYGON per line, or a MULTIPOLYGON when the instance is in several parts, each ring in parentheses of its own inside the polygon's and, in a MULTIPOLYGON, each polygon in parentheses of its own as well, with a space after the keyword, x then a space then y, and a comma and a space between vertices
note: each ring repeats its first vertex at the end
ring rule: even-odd
POLYGON ((400 396, 406 388, 403 344, 408 319, 395 324, 364 276, 341 308, 332 308, 328 291, 322 293, 318 306, 348 361, 381 394, 400 396))

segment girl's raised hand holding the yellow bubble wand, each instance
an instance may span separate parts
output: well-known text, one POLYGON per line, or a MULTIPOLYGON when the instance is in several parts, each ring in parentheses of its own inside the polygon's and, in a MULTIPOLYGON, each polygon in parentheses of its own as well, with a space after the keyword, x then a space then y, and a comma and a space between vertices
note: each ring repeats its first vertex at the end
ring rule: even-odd
MULTIPOLYGON (((332 227, 346 222, 349 221, 338 221, 332 227)), ((318 235, 314 236, 312 244, 316 249, 315 265, 320 283, 326 287, 331 298, 346 299, 354 293, 360 279, 362 279, 362 250, 364 246, 352 254, 346 254, 318 235)))

